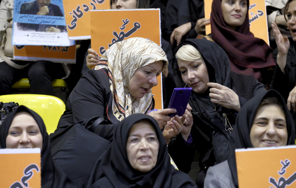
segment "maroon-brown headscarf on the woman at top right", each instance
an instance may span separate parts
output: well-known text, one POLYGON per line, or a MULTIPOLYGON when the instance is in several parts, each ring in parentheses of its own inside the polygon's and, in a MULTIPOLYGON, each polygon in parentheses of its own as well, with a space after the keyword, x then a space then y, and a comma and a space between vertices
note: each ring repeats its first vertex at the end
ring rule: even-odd
MULTIPOLYGON (((247 0, 247 7, 249 5, 249 0, 247 0)), ((253 75, 257 80, 262 81, 262 70, 258 69, 275 65, 272 56, 273 50, 264 40, 254 37, 253 33, 250 32, 248 15, 249 9, 243 24, 233 31, 226 26, 224 21, 221 0, 213 0, 211 12, 212 39, 227 53, 232 71, 253 75)))

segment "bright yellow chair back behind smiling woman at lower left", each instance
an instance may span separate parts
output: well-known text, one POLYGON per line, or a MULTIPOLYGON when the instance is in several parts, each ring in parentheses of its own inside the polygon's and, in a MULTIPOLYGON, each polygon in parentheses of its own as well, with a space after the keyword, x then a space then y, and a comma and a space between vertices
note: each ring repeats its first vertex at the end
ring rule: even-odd
POLYGON ((24 105, 43 119, 48 134, 54 132, 61 115, 65 111, 64 102, 54 96, 38 94, 12 94, 0 95, 1 102, 15 102, 24 105))

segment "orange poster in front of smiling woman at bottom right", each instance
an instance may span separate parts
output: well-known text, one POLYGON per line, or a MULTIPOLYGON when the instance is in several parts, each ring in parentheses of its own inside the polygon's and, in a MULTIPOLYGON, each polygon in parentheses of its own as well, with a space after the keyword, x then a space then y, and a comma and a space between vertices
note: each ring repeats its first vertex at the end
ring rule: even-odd
POLYGON ((296 187, 296 145, 235 152, 239 188, 296 187))

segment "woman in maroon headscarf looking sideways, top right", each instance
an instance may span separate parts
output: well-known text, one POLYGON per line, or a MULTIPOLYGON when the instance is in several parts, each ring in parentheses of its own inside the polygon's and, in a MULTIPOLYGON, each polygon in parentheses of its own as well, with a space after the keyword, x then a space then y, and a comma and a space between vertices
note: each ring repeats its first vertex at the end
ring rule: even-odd
POLYGON ((266 73, 275 65, 272 49, 250 32, 248 7, 249 0, 213 0, 212 39, 225 50, 232 71, 270 83, 266 73))

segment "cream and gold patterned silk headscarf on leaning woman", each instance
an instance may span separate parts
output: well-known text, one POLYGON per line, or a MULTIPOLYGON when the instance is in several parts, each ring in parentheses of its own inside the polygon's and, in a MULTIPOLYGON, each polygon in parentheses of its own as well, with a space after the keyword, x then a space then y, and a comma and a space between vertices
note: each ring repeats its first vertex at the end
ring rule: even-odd
POLYGON ((119 121, 131 114, 148 112, 152 104, 152 90, 142 98, 133 98, 128 85, 137 69, 156 61, 165 62, 163 69, 168 65, 167 56, 161 47, 149 39, 135 37, 114 43, 95 66, 95 70, 108 69, 113 94, 112 111, 119 121))

